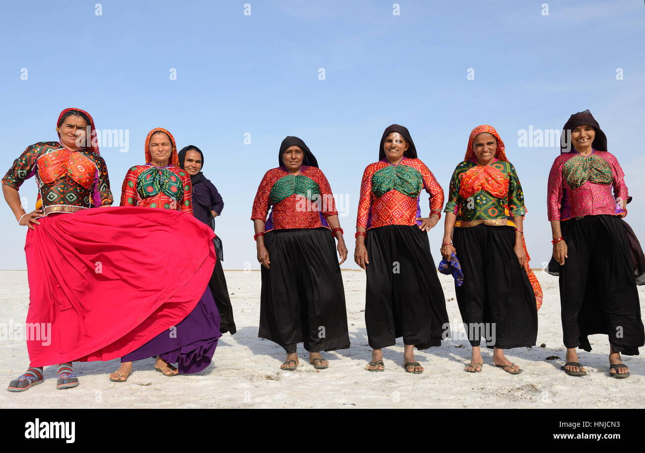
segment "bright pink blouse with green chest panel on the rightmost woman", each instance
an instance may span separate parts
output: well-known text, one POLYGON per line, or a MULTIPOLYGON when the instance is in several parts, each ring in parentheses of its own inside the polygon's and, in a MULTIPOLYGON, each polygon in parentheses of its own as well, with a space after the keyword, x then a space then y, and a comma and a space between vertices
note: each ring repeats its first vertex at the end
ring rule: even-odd
POLYGON ((618 160, 609 152, 592 150, 589 156, 582 156, 571 150, 561 154, 549 174, 549 220, 624 213, 619 203, 619 199, 628 197, 624 176, 618 160))

